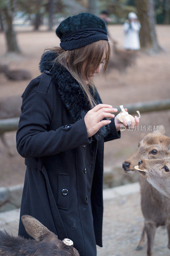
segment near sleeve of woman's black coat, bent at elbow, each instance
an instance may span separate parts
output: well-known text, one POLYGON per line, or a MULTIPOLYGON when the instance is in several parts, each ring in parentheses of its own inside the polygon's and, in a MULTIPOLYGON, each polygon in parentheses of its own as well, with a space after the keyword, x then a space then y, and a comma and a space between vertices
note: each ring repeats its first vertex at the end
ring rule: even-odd
POLYGON ((17 151, 25 157, 54 155, 91 143, 84 119, 48 131, 53 115, 53 90, 46 94, 38 91, 40 78, 33 79, 23 93, 23 104, 16 134, 17 151))

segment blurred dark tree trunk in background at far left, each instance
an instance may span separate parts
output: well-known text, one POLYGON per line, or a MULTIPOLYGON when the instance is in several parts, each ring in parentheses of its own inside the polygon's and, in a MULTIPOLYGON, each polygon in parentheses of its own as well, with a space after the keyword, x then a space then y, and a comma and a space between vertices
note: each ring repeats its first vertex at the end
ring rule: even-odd
POLYGON ((17 40, 16 40, 16 33, 12 25, 12 20, 14 16, 14 4, 15 4, 15 0, 11 0, 9 4, 3 8, 5 23, 6 23, 5 36, 6 36, 8 52, 20 52, 17 44, 17 40))

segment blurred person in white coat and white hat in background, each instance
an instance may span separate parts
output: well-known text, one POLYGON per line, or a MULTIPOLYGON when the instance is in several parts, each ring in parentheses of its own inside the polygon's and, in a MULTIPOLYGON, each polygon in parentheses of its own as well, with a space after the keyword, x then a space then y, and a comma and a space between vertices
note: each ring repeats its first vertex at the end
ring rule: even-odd
POLYGON ((123 24, 123 32, 125 34, 123 47, 127 50, 139 50, 139 31, 141 25, 137 19, 135 12, 129 12, 128 20, 123 24))

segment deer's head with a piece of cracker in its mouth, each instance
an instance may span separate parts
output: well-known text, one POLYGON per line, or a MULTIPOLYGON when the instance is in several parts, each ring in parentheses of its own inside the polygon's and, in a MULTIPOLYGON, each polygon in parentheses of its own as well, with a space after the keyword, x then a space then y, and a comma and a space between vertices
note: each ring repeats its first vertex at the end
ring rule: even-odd
POLYGON ((162 159, 143 159, 138 163, 139 174, 154 188, 170 198, 170 157, 162 159), (142 170, 141 170, 142 169, 142 170))

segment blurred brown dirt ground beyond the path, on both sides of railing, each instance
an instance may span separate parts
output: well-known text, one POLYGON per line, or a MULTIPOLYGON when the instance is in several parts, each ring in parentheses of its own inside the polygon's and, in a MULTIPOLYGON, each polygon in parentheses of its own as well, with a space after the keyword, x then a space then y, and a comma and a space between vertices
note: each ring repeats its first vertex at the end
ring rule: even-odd
MULTIPOLYGON (((123 34, 122 25, 110 25, 110 34, 118 41, 118 47, 122 48, 123 34)), ((39 32, 33 32, 26 28, 17 28, 18 43, 22 54, 19 56, 4 55, 6 52, 4 34, 0 34, 0 61, 9 64, 11 69, 25 68, 32 74, 32 78, 40 75, 38 64, 41 54, 46 47, 59 45, 55 32, 47 32, 42 28, 39 32)), ((123 84, 120 84, 120 76, 116 70, 107 74, 105 81, 101 74, 95 76, 95 84, 100 93, 103 103, 113 106, 152 101, 170 98, 170 26, 157 25, 157 36, 159 44, 165 52, 155 56, 147 56, 139 53, 135 67, 129 67, 124 76, 123 84)), ((0 74, 0 99, 9 95, 22 94, 29 81, 9 81, 0 74)), ((170 136, 170 111, 159 111, 142 114, 140 125, 157 126, 164 124, 166 135, 170 136)), ((117 175, 124 179, 125 174, 121 169, 122 162, 137 150, 138 142, 148 131, 125 131, 121 139, 105 143, 104 166, 113 167, 117 175)), ((26 166, 24 159, 18 155, 15 142, 16 132, 5 134, 6 140, 11 147, 14 156, 8 155, 0 141, 0 186, 21 184, 24 181, 26 166)), ((126 174, 128 177, 128 174, 126 174)), ((122 180, 123 184, 123 180, 122 180)), ((120 184, 121 185, 121 184, 120 184)))

